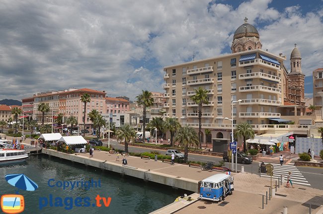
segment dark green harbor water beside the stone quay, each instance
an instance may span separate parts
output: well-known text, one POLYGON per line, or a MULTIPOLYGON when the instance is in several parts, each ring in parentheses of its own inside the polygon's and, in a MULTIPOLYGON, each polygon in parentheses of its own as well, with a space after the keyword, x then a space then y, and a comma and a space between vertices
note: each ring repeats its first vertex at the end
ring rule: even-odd
POLYGON ((25 214, 147 214, 190 194, 39 154, 30 155, 23 164, 0 167, 1 195, 16 194, 17 188, 7 183, 5 175, 20 173, 38 184, 35 191, 19 190, 25 214))

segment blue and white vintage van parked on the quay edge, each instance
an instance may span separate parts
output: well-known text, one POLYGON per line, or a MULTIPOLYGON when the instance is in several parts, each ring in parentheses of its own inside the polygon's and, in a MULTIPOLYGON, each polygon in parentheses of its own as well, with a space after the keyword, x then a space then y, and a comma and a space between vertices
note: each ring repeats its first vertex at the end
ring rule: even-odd
POLYGON ((220 202, 234 190, 233 177, 229 174, 215 174, 201 181, 200 199, 220 202))

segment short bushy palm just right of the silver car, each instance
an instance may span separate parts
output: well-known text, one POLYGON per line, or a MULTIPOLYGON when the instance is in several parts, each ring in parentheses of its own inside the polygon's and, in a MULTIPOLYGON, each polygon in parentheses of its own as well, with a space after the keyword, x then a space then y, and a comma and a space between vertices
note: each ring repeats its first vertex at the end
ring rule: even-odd
POLYGON ((195 148, 199 146, 198 136, 194 128, 187 125, 180 127, 176 133, 175 141, 179 143, 181 147, 184 147, 184 161, 188 159, 188 149, 192 146, 195 148))

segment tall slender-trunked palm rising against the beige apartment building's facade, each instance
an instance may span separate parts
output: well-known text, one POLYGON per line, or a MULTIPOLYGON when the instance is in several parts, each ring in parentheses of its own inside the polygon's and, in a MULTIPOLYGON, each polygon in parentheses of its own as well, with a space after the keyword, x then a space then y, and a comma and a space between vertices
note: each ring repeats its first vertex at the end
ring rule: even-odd
POLYGON ((199 87, 198 89, 195 89, 195 94, 191 96, 191 100, 193 100, 198 105, 198 139, 200 142, 199 147, 202 148, 202 105, 208 104, 208 95, 207 90, 199 87))

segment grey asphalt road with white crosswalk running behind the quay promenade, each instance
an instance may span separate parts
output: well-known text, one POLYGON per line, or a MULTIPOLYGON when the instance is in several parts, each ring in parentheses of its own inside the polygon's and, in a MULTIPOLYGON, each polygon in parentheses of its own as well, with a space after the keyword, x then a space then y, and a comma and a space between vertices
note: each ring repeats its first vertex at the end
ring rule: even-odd
MULTIPOLYGON (((104 145, 107 145, 107 142, 103 142, 104 145)), ((116 149, 124 149, 124 145, 120 145, 116 140, 110 140, 110 145, 116 149)), ((150 151, 159 151, 161 154, 164 154, 166 151, 162 149, 153 149, 153 148, 144 148, 137 146, 129 146, 130 152, 150 152, 150 151)), ((189 154, 188 160, 191 161, 213 161, 215 163, 219 163, 222 161, 222 157, 214 157, 209 155, 200 155, 200 154, 189 154)), ((226 162, 225 166, 231 168, 231 163, 226 162)), ((259 162, 252 162, 251 164, 240 164, 238 163, 238 170, 241 170, 241 167, 244 166, 244 171, 249 173, 255 173, 259 175, 258 168, 259 162)), ((287 172, 292 171, 294 173, 294 178, 292 174, 292 180, 299 184, 304 184, 305 186, 310 186, 316 189, 323 190, 322 179, 323 179, 323 169, 320 167, 304 167, 304 166, 293 166, 293 165, 285 165, 282 169, 279 168, 278 164, 274 164, 274 174, 276 173, 276 177, 280 177, 280 174, 285 175, 287 177, 287 172), (301 177, 301 178, 299 178, 301 177), (301 179, 300 181, 298 179, 301 179)), ((236 169, 236 163, 234 164, 234 168, 236 169)), ((265 174, 261 176, 265 177, 265 174)))

